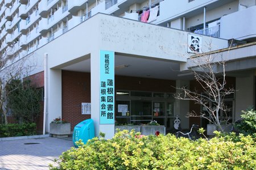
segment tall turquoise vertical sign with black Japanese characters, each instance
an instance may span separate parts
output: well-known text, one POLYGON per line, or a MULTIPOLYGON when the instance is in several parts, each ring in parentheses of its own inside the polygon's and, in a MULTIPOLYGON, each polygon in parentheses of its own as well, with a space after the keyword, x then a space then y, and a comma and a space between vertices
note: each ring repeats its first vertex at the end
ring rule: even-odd
POLYGON ((100 50, 100 124, 114 124, 114 52, 100 50))

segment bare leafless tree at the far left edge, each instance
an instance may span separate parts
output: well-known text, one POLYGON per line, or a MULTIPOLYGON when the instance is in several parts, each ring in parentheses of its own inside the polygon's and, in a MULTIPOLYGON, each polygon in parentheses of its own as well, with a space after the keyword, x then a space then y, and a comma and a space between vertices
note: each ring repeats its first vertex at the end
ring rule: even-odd
POLYGON ((14 52, 16 51, 17 49, 15 49, 15 47, 9 48, 0 56, 0 112, 3 114, 5 124, 8 124, 7 99, 11 92, 16 90, 16 88, 14 88, 11 91, 7 91, 7 85, 14 78, 29 73, 36 66, 35 60, 30 58, 33 53, 27 54, 24 51, 18 52, 19 55, 14 57, 14 52))

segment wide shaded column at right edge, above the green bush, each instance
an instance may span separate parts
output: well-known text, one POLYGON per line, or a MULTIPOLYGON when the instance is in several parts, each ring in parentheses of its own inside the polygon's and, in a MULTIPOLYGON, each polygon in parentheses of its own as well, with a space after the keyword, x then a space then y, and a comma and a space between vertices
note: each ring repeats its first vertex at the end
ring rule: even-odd
MULTIPOLYGON (((255 104, 255 75, 254 70, 251 70, 247 77, 236 78, 236 108, 235 120, 241 118, 241 111, 246 111, 249 107, 255 104)), ((254 106, 255 107, 255 106, 254 106)))

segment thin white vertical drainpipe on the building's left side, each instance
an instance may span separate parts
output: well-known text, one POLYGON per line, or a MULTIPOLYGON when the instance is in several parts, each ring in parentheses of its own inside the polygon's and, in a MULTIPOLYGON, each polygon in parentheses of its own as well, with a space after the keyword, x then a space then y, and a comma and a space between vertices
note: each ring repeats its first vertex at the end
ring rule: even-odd
POLYGON ((46 134, 46 107, 47 107, 47 57, 48 53, 44 53, 44 122, 43 134, 46 134))

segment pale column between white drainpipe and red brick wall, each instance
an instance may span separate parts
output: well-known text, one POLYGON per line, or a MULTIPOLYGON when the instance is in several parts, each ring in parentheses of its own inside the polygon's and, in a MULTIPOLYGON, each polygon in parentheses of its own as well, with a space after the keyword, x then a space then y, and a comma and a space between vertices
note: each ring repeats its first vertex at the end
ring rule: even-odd
MULTIPOLYGON (((48 71, 48 108, 46 110, 46 132, 49 133, 49 124, 53 119, 61 116, 61 70, 49 69, 48 71)), ((46 86, 46 84, 44 84, 46 86)))

